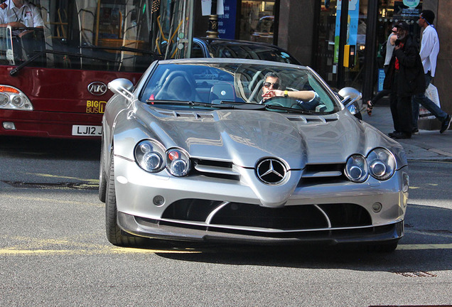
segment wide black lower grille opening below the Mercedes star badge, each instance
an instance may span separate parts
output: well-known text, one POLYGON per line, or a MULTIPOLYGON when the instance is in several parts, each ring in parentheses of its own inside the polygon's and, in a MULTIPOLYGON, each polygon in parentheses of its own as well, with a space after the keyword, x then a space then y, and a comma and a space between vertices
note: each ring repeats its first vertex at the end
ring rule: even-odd
POLYGON ((185 199, 169 205, 162 218, 206 225, 292 231, 372 225, 367 210, 350 203, 264 208, 247 203, 185 199))

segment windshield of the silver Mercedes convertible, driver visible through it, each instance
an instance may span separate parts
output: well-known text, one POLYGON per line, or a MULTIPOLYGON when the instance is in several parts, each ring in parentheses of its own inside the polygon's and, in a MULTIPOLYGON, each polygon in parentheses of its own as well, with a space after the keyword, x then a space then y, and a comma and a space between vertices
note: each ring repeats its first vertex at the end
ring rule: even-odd
POLYGON ((160 64, 140 93, 141 102, 254 103, 303 109, 313 114, 340 110, 336 100, 311 70, 255 63, 160 64), (269 74, 279 77, 278 94, 281 97, 263 97, 269 74), (283 95, 285 91, 287 95, 283 95))

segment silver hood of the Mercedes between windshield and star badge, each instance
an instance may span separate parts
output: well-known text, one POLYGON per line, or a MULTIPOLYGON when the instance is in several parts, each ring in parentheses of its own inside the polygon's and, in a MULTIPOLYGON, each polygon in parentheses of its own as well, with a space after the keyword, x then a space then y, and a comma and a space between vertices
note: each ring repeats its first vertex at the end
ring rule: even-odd
POLYGON ((249 110, 178 112, 149 106, 141 111, 136 115, 149 136, 166 148, 178 146, 192 158, 232 161, 247 168, 265 157, 279 158, 289 169, 302 169, 306 163, 343 163, 351 154, 366 156, 375 144, 397 144, 346 110, 322 117, 249 110))

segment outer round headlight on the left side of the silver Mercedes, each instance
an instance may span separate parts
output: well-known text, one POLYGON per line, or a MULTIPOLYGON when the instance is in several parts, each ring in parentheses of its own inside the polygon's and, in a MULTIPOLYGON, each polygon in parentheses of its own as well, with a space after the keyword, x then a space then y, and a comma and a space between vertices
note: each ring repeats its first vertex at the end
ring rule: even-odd
POLYGON ((144 171, 157 173, 165 168, 165 150, 153 140, 140 141, 135 146, 135 161, 144 171))

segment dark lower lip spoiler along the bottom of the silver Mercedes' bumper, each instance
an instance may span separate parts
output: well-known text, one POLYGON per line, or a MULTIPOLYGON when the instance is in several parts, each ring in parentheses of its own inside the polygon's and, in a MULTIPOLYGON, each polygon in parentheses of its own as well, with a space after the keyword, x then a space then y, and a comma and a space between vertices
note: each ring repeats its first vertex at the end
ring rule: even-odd
POLYGON ((187 227, 177 222, 134 217, 118 212, 118 225, 132 235, 154 239, 173 239, 198 242, 235 242, 254 244, 289 244, 289 243, 389 243, 404 235, 404 221, 389 225, 357 227, 353 229, 266 232, 257 235, 246 230, 225 230, 220 227, 187 227))

